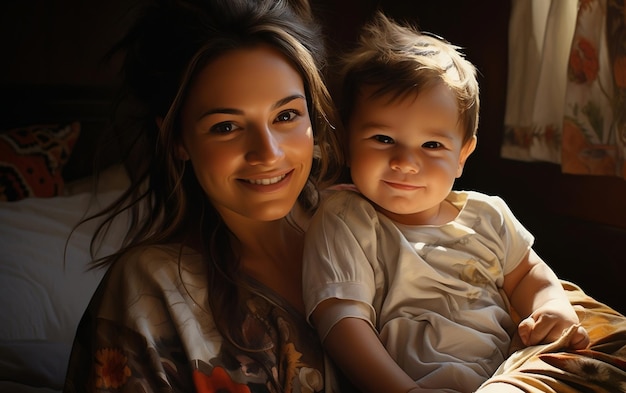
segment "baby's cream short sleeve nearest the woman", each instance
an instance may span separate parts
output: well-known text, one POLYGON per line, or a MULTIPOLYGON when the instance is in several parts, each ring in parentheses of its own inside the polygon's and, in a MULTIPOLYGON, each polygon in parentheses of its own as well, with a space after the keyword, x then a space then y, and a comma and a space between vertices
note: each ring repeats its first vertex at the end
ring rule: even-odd
POLYGON ((372 301, 378 279, 377 228, 375 210, 351 191, 329 196, 311 220, 304 247, 303 294, 307 320, 322 339, 343 318, 376 324, 372 301), (312 321, 315 308, 331 298, 345 302, 312 321))

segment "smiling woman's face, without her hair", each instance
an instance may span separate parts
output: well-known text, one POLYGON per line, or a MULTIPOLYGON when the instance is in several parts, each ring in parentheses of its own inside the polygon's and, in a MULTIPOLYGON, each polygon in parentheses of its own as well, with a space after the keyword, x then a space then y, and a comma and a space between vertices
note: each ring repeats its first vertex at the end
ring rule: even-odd
POLYGON ((268 46, 209 63, 181 111, 180 157, 222 217, 284 217, 313 160, 313 130, 300 74, 268 46))

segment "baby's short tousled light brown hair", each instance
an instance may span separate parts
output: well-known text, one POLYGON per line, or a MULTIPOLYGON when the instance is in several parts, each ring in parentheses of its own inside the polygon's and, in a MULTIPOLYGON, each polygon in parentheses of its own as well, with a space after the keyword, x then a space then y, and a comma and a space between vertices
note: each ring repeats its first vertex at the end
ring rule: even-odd
POLYGON ((376 13, 340 60, 342 121, 347 125, 364 86, 375 88, 372 97, 389 95, 393 101, 444 83, 457 98, 463 141, 469 141, 478 129, 479 90, 476 68, 459 50, 439 36, 376 13))

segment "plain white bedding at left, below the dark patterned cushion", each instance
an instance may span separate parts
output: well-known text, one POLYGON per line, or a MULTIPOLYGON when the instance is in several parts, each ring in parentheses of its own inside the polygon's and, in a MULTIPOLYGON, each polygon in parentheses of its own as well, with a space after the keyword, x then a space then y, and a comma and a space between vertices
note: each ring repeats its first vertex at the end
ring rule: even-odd
MULTIPOLYGON (((0 379, 62 383, 76 327, 104 274, 87 270, 96 223, 72 234, 64 259, 65 244, 90 206, 93 212, 120 193, 0 202, 0 379), (41 358, 16 360, 22 353, 41 358)), ((125 218, 114 223, 98 255, 119 247, 126 226, 125 218)))

